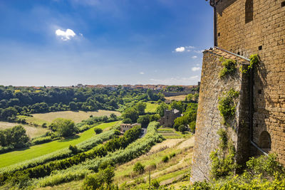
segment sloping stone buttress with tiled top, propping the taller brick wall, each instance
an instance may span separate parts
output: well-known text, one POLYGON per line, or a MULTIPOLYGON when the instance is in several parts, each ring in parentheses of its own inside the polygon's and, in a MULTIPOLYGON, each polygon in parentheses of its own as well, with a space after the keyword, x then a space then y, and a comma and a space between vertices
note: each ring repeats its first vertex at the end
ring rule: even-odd
POLYGON ((237 163, 242 164, 249 157, 249 75, 242 74, 237 68, 234 75, 219 78, 222 70, 220 57, 238 61, 237 67, 247 60, 232 56, 218 49, 204 51, 199 105, 195 132, 195 147, 192 161, 191 181, 210 178, 211 160, 209 154, 218 147, 220 128, 227 130, 237 150, 237 163), (230 89, 239 92, 236 115, 230 127, 222 125, 222 116, 218 110, 219 97, 230 89))

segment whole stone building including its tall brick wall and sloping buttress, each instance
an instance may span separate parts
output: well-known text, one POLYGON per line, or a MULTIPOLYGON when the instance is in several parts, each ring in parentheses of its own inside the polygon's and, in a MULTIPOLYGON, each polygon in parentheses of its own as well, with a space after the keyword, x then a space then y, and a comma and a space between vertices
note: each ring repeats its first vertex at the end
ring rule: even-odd
POLYGON ((214 48, 204 51, 191 181, 210 176, 209 154, 223 128, 244 164, 254 154, 275 152, 285 164, 285 1, 210 0, 214 8, 214 48), (259 63, 249 74, 249 56, 259 63), (219 77, 219 58, 237 60, 234 75, 219 77), (231 127, 222 125, 219 97, 239 92, 231 127))

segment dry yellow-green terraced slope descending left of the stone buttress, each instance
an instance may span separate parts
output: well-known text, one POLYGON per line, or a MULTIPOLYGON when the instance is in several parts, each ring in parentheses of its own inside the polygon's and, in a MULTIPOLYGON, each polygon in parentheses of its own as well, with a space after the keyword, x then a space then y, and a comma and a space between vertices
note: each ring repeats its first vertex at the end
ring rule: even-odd
MULTIPOLYGON (((146 154, 116 167, 114 184, 118 184, 120 188, 125 187, 125 189, 147 189, 150 172, 151 181, 158 181, 160 186, 165 185, 167 188, 175 187, 175 189, 181 189, 181 186, 189 186, 193 146, 194 137, 166 139, 153 146, 146 154), (170 155, 172 157, 168 162, 162 162, 163 157, 170 157, 170 155), (143 174, 135 174, 133 171, 137 162, 145 166, 143 174)), ((47 186, 39 189, 80 189, 82 184, 83 180, 71 181, 58 186, 47 186)))

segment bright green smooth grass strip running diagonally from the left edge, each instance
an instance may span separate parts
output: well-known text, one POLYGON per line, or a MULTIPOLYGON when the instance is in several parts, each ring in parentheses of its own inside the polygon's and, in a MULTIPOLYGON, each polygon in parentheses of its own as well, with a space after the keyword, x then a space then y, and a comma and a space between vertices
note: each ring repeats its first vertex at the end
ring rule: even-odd
MULTIPOLYGON (((107 127, 111 127, 116 124, 117 122, 103 123, 96 127, 97 128, 99 127, 104 130, 107 127)), ((90 130, 87 130, 86 132, 78 134, 74 137, 69 137, 67 139, 60 139, 60 140, 48 142, 45 144, 38 144, 32 147, 28 147, 27 149, 21 149, 21 150, 17 150, 14 152, 8 152, 6 154, 0 154, 0 160, 1 160, 0 167, 7 167, 11 164, 24 162, 28 159, 33 159, 36 157, 40 157, 44 154, 55 152, 58 149, 69 147, 70 144, 75 145, 80 142, 83 142, 86 139, 93 137, 94 135, 95 135, 95 132, 93 128, 91 128, 90 130)))

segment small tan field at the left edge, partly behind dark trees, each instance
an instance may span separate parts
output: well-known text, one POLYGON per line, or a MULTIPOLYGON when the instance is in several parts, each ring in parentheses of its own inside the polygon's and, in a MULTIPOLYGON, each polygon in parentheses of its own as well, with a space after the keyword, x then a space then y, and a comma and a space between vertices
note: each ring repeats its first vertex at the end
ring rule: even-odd
POLYGON ((30 138, 41 136, 42 134, 45 134, 46 132, 50 131, 47 128, 33 127, 30 125, 23 125, 23 124, 14 123, 14 122, 0 122, 0 130, 5 130, 8 128, 14 127, 16 125, 23 126, 24 129, 26 130, 26 134, 30 138))

